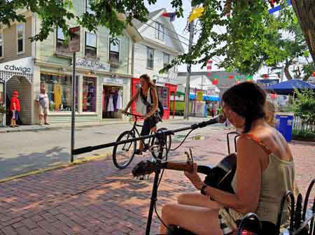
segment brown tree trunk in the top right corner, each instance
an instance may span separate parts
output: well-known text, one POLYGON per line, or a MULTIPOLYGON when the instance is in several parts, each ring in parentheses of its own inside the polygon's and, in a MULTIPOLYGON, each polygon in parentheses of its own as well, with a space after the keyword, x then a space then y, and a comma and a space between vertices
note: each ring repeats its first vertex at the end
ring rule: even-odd
POLYGON ((311 57, 315 62, 315 1, 291 0, 291 3, 300 22, 311 57))

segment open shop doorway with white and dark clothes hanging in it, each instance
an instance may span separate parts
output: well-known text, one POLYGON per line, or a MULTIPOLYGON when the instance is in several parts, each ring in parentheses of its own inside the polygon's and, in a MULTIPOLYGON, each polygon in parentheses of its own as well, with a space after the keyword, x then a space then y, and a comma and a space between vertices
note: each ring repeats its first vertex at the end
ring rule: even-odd
POLYGON ((102 118, 123 118, 123 87, 103 85, 102 118))

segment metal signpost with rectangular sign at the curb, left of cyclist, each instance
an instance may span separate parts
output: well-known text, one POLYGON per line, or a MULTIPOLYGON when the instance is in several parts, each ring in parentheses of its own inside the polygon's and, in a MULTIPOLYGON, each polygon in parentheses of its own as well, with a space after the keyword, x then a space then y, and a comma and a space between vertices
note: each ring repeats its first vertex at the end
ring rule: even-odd
POLYGON ((76 52, 80 51, 80 27, 73 27, 69 29, 69 52, 73 52, 72 57, 72 107, 71 107, 71 162, 73 162, 74 150, 74 128, 76 118, 76 52))

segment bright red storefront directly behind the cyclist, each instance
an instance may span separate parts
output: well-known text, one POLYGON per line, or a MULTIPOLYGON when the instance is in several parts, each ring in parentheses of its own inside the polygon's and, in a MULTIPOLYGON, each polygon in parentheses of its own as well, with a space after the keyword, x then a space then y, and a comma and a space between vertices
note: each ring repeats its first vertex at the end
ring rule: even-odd
MULTIPOLYGON (((162 119, 169 119, 170 109, 171 109, 171 96, 174 96, 176 94, 177 85, 170 84, 170 83, 160 83, 157 81, 157 92, 158 97, 162 103, 162 106, 164 108, 164 115, 162 119)), ((140 87, 140 78, 132 78, 132 94, 134 94, 137 90, 137 88, 140 87)), ((132 104, 132 113, 136 112, 135 104, 132 104)))

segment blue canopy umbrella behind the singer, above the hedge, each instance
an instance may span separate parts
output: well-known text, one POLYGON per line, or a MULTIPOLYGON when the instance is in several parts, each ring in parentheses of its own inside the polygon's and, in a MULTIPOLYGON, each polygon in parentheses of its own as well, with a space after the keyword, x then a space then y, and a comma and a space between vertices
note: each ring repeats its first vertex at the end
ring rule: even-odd
POLYGON ((293 94, 294 90, 302 90, 302 89, 312 89, 315 91, 315 85, 311 85, 310 83, 306 83, 302 80, 287 80, 282 83, 276 83, 273 85, 269 85, 265 88, 268 92, 274 92, 276 94, 293 94))

